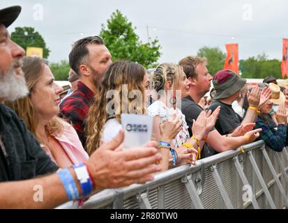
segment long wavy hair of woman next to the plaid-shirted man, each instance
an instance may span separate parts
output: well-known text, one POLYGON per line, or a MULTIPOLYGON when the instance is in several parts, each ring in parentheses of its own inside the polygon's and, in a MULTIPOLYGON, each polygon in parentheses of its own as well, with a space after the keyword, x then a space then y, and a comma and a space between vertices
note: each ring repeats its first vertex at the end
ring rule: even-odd
POLYGON ((116 61, 107 68, 86 118, 86 149, 89 155, 100 146, 101 134, 108 118, 116 118, 121 123, 123 106, 128 108, 128 113, 144 114, 143 106, 135 107, 131 103, 135 98, 127 97, 128 100, 123 100, 122 96, 126 97, 132 90, 138 90, 144 95, 142 82, 145 74, 145 68, 132 61, 116 61), (126 84, 125 88, 123 84, 126 84), (114 104, 112 100, 115 99, 109 97, 113 90, 119 93, 119 102, 114 104), (107 110, 109 106, 114 110, 114 114, 107 110), (131 112, 132 110, 134 112, 131 112))

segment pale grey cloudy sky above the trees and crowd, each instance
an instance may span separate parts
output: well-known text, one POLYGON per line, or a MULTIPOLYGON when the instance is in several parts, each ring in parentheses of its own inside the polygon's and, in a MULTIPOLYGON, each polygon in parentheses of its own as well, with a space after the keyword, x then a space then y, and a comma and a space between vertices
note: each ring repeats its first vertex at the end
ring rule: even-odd
POLYGON ((68 60, 75 40, 98 35, 116 9, 136 26, 142 42, 158 38, 159 62, 178 62, 203 46, 225 51, 227 43, 239 44, 240 59, 263 52, 281 59, 282 38, 288 38, 287 0, 0 1, 0 8, 13 5, 22 6, 22 13, 8 30, 33 26, 52 51, 53 62, 68 60))

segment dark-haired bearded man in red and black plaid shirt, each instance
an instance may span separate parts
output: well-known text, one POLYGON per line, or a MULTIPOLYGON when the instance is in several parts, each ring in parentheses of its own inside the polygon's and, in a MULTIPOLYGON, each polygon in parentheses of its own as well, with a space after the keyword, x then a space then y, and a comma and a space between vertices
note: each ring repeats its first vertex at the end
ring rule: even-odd
POLYGON ((112 63, 111 54, 99 36, 77 40, 69 54, 70 67, 79 75, 78 89, 61 102, 61 116, 77 131, 85 148, 84 121, 98 82, 112 63))

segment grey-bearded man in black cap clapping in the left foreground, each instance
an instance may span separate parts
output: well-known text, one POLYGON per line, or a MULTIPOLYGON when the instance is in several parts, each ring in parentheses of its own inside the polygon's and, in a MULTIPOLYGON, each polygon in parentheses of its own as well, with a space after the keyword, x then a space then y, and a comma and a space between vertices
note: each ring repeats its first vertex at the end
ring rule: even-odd
POLYGON ((20 11, 20 6, 0 10, 0 208, 54 208, 106 188, 153 180, 151 174, 161 169, 155 164, 161 159, 155 142, 122 151, 120 131, 85 163, 60 170, 24 121, 2 104, 28 93, 21 69, 24 50, 6 29, 20 11))

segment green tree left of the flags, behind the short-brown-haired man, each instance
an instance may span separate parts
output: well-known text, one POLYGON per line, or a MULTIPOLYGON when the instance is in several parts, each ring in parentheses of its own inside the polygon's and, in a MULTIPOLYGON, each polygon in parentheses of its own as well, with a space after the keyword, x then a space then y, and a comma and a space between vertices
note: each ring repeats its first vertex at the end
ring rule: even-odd
POLYGON ((211 75, 215 75, 224 67, 226 54, 219 47, 202 47, 198 50, 197 56, 206 57, 207 69, 211 75))

